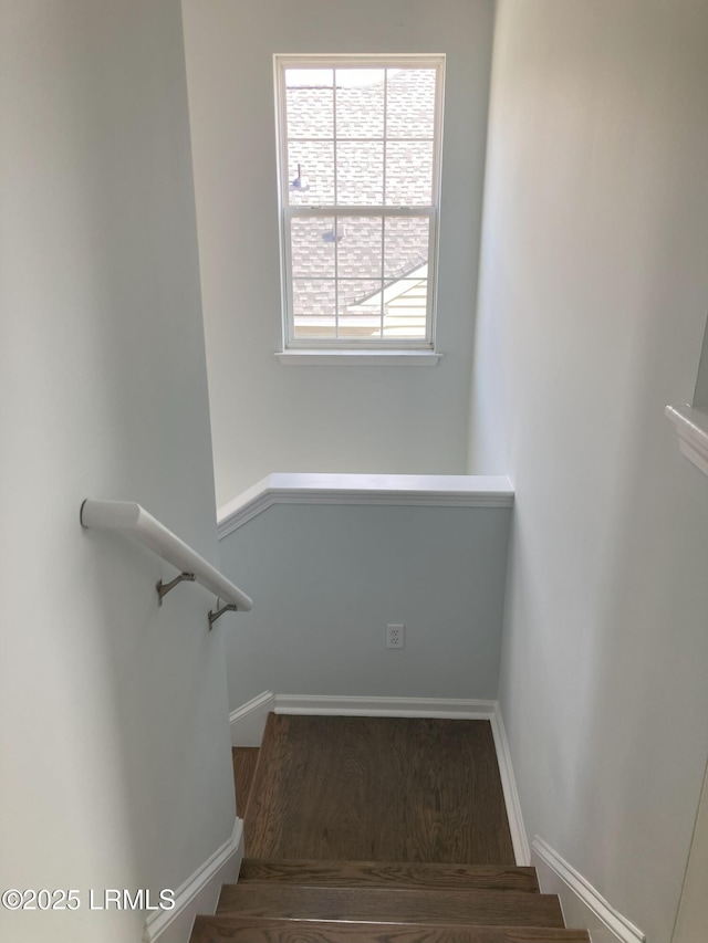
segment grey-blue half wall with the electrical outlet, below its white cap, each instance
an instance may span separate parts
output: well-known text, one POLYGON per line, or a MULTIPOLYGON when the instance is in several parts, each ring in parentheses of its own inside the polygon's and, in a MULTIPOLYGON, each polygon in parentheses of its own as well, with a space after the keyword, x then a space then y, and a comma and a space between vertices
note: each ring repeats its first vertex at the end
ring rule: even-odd
POLYGON ((251 612, 229 701, 280 694, 497 696, 511 509, 269 507, 220 543, 251 612), (405 648, 385 648, 388 622, 405 648))

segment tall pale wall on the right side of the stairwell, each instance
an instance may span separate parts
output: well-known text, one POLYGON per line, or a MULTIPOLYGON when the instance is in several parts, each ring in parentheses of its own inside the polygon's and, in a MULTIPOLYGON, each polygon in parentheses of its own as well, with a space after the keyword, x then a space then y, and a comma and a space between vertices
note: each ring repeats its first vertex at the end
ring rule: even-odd
POLYGON ((501 0, 471 470, 516 488, 501 702, 527 827, 668 941, 708 751, 708 7, 501 0))

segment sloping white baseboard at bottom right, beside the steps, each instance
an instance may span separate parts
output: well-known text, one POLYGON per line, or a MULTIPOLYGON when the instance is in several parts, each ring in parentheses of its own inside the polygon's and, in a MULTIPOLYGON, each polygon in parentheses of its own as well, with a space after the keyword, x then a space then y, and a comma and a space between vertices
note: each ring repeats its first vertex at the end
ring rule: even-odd
POLYGON ((544 894, 558 894, 566 926, 582 926, 593 943, 645 943, 646 936, 538 835, 531 863, 544 894))

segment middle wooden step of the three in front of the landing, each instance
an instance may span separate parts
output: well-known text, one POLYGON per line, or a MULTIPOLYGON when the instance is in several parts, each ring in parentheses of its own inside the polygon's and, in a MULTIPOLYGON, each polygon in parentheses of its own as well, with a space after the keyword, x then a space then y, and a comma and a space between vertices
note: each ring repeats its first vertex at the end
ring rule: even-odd
POLYGON ((400 888, 311 888, 271 881, 225 884, 218 914, 285 920, 343 920, 563 926, 552 894, 400 888))

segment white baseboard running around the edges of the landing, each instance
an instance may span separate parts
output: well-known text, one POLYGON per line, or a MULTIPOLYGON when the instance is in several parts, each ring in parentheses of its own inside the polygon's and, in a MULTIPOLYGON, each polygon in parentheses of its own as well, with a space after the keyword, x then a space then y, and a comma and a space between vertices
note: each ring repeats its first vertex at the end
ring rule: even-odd
POLYGON ((277 714, 350 717, 488 720, 494 737, 514 858, 517 865, 529 863, 529 840, 523 827, 509 743, 497 701, 461 698, 342 698, 327 694, 273 694, 272 691, 263 691, 258 698, 232 711, 230 717, 233 746, 260 746, 269 711, 277 714))

